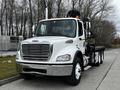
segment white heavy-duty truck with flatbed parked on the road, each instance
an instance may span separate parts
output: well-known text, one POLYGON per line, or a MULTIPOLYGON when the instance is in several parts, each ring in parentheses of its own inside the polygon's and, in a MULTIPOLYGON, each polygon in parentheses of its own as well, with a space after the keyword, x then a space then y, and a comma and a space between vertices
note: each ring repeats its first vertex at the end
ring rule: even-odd
POLYGON ((16 62, 20 75, 24 79, 64 76, 71 85, 79 84, 84 68, 99 66, 104 59, 104 47, 88 43, 92 38, 88 26, 76 18, 41 20, 34 37, 19 45, 16 62))

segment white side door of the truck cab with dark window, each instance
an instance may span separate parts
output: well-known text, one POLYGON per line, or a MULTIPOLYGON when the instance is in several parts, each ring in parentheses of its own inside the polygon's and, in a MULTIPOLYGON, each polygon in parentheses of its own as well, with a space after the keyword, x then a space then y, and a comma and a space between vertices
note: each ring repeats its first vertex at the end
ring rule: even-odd
POLYGON ((78 46, 81 52, 85 53, 85 34, 84 27, 81 21, 78 21, 78 46))

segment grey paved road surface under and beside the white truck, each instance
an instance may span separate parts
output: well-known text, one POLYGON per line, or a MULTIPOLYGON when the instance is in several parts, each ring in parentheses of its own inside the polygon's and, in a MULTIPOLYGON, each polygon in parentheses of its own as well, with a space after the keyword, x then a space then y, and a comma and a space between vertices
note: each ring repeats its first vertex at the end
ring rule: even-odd
POLYGON ((0 90, 120 90, 120 49, 105 51, 99 67, 88 68, 77 86, 70 86, 59 77, 19 79, 0 86, 0 90))

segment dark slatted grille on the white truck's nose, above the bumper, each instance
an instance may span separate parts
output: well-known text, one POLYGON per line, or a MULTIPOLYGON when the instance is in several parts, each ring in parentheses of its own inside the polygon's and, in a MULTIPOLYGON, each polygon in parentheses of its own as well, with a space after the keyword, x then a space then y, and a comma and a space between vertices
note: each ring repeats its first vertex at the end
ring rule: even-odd
POLYGON ((50 44, 23 44, 22 56, 24 60, 47 61, 51 56, 50 44))

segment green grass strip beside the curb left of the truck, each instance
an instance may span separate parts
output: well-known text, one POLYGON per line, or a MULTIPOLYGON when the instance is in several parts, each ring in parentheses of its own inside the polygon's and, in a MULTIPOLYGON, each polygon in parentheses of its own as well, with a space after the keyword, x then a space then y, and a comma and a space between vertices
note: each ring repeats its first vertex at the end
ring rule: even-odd
POLYGON ((0 80, 17 74, 15 56, 0 57, 0 80))

